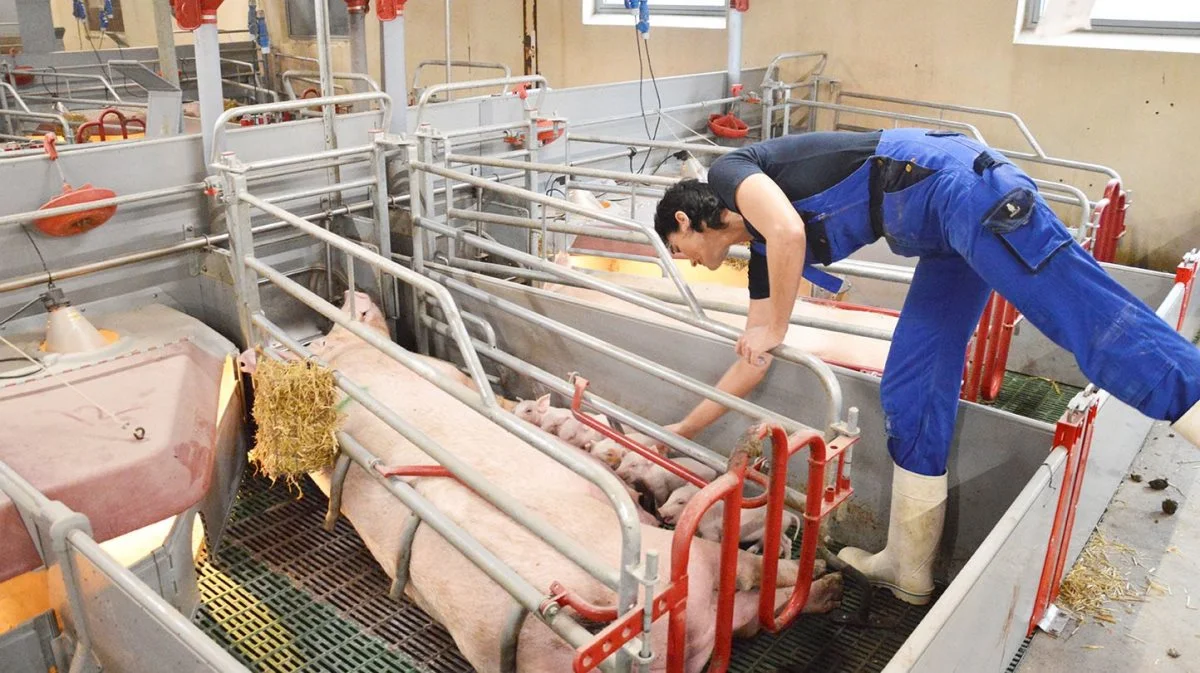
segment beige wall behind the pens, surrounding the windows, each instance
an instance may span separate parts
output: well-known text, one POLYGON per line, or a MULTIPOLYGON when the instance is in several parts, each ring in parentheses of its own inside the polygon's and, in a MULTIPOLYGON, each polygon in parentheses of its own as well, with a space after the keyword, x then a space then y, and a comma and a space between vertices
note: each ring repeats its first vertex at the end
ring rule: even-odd
MULTIPOLYGON (((70 13, 68 0, 54 2, 55 16, 70 13)), ((222 19, 232 16, 230 25, 240 28, 244 2, 227 0, 222 19)), ((136 4, 127 4, 128 28, 136 4)), ((282 0, 262 5, 277 49, 313 55, 313 41, 287 37, 282 0)), ((443 8, 433 0, 408 2, 409 72, 420 60, 444 56, 443 8)), ((454 0, 454 58, 503 61, 522 72, 521 12, 521 0, 454 0)), ((1051 155, 1120 170, 1134 204, 1121 259, 1172 268, 1184 250, 1200 245, 1200 190, 1190 169, 1190 158, 1200 156, 1200 134, 1192 130, 1200 110, 1200 55, 1013 44, 1015 16, 1016 0, 756 0, 745 17, 744 65, 821 49, 830 54, 827 74, 846 90, 1016 112, 1051 155)), ((541 72, 552 85, 637 78, 630 28, 583 25, 580 0, 541 0, 539 24, 541 72)), ((372 18, 367 26, 371 74, 378 78, 379 23, 372 18)), ((650 49, 659 77, 724 70, 726 35, 655 26, 650 49)), ((336 68, 349 67, 344 40, 335 40, 334 56, 336 68)), ((983 131, 994 143, 1016 145, 1004 128, 985 124, 983 131)))

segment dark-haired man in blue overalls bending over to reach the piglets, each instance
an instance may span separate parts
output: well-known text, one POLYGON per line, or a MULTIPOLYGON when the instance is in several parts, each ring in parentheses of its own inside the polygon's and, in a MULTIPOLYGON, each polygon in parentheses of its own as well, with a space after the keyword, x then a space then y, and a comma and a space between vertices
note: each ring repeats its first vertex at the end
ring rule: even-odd
MULTIPOLYGON (((666 245, 709 269, 750 244, 750 308, 718 383, 744 396, 787 332, 800 277, 838 292, 816 266, 887 240, 918 258, 881 381, 895 463, 888 540, 844 560, 911 603, 928 603, 946 513, 946 462, 966 347, 995 289, 1098 386, 1200 444, 1200 349, 1114 281, 1003 155, 920 128, 785 136, 738 149, 659 202, 666 245)), ((725 413, 704 401, 670 426, 694 437, 725 413)))

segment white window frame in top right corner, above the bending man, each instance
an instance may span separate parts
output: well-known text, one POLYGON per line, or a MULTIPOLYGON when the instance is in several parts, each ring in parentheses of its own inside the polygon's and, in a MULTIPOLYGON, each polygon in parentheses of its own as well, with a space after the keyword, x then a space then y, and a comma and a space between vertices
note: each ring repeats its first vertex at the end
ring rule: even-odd
POLYGON ((1093 19, 1090 30, 1056 37, 1034 34, 1045 0, 1020 0, 1014 42, 1051 47, 1126 49, 1135 52, 1200 53, 1200 20, 1093 19))

